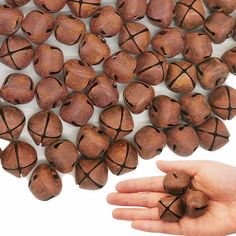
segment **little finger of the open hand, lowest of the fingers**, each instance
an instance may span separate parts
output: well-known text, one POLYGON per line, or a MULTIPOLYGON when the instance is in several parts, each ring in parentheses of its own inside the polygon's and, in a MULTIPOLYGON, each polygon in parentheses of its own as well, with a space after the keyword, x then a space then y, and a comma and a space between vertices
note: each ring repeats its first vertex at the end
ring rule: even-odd
POLYGON ((132 227, 145 232, 182 235, 179 223, 153 220, 135 220, 132 227))

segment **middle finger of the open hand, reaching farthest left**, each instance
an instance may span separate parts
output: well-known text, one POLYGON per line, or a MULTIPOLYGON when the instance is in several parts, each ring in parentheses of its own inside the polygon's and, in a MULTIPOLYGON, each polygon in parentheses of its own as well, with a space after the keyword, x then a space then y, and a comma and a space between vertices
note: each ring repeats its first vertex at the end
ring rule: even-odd
POLYGON ((118 206, 156 207, 164 193, 111 193, 107 196, 109 204, 118 206))

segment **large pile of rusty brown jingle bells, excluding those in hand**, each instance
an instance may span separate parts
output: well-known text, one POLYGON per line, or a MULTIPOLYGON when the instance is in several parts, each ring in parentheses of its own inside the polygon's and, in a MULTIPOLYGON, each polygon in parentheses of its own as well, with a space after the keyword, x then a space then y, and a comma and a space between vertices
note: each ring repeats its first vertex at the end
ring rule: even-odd
POLYGON ((30 0, 6 2, 0 6, 0 35, 5 36, 0 61, 14 70, 32 61, 41 79, 34 84, 29 75, 12 73, 2 83, 6 103, 0 106, 0 138, 11 143, 1 153, 1 162, 17 177, 36 166, 35 149, 19 140, 26 119, 17 108, 35 97, 42 110, 27 121, 27 128, 37 145, 46 146, 48 161, 30 177, 29 188, 38 199, 61 192, 57 171, 69 173, 75 167, 81 188, 100 189, 108 168, 116 175, 132 171, 138 154, 151 159, 167 144, 175 154, 189 156, 199 145, 214 151, 228 142, 221 119, 236 115, 236 90, 224 82, 229 72, 236 74, 236 47, 221 59, 211 55, 212 43, 231 36, 236 40, 230 15, 235 0, 205 0, 209 16, 201 0, 118 0, 116 8, 101 6, 101 0, 34 0, 36 9, 25 16, 20 7, 30 0), (66 4, 72 15, 57 14, 66 4), (138 22, 145 16, 157 26, 152 38, 148 27, 138 22), (90 31, 81 19, 87 17, 90 31), (170 27, 173 20, 175 26, 170 27), (20 29, 24 36, 17 34, 20 29), (64 61, 62 50, 46 42, 52 34, 62 44, 78 45, 79 57, 64 61), (122 51, 111 55, 105 38, 115 35, 122 51), (181 60, 168 61, 181 53, 181 60), (93 65, 101 63, 103 73, 96 74, 93 65), (178 101, 155 95, 154 86, 162 82, 181 95, 178 101), (197 82, 210 90, 209 97, 192 92, 197 82), (117 83, 126 84, 123 105, 118 103, 117 83), (59 115, 52 111, 57 107, 59 115), (101 108, 100 127, 88 123, 94 107, 101 108), (132 144, 123 139, 134 129, 131 113, 145 110, 150 125, 137 131, 132 144), (80 127, 76 145, 61 139, 61 119, 80 127))

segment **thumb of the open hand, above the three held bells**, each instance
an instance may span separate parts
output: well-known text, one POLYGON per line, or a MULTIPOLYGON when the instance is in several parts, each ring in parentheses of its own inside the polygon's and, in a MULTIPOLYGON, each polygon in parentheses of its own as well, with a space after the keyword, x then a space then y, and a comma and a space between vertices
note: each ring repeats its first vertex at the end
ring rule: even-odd
POLYGON ((194 176, 203 167, 202 161, 157 161, 157 167, 167 173, 170 171, 181 171, 187 175, 194 176))

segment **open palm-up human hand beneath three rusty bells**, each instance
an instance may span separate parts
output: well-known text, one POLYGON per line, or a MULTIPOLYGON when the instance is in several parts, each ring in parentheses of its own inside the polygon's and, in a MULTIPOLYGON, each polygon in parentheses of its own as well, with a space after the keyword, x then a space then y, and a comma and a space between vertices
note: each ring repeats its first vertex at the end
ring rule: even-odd
POLYGON ((187 236, 224 236, 236 233, 236 168, 212 161, 158 161, 167 173, 181 171, 192 177, 193 186, 206 193, 209 206, 199 218, 184 216, 179 222, 163 222, 157 204, 166 196, 163 178, 150 177, 120 182, 117 193, 107 197, 108 203, 125 207, 113 211, 113 217, 132 221, 137 230, 187 236), (137 208, 139 207, 139 208, 137 208))

